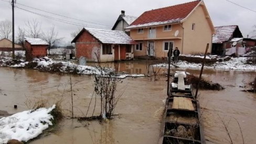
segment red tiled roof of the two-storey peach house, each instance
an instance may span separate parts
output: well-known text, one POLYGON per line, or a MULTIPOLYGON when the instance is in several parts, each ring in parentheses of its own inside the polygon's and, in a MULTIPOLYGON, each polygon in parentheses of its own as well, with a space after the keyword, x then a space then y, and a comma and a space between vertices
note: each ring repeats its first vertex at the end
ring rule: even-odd
POLYGON ((176 23, 186 19, 187 16, 196 8, 201 1, 158 8, 145 11, 140 17, 131 23, 126 29, 164 25, 167 23, 176 23))

